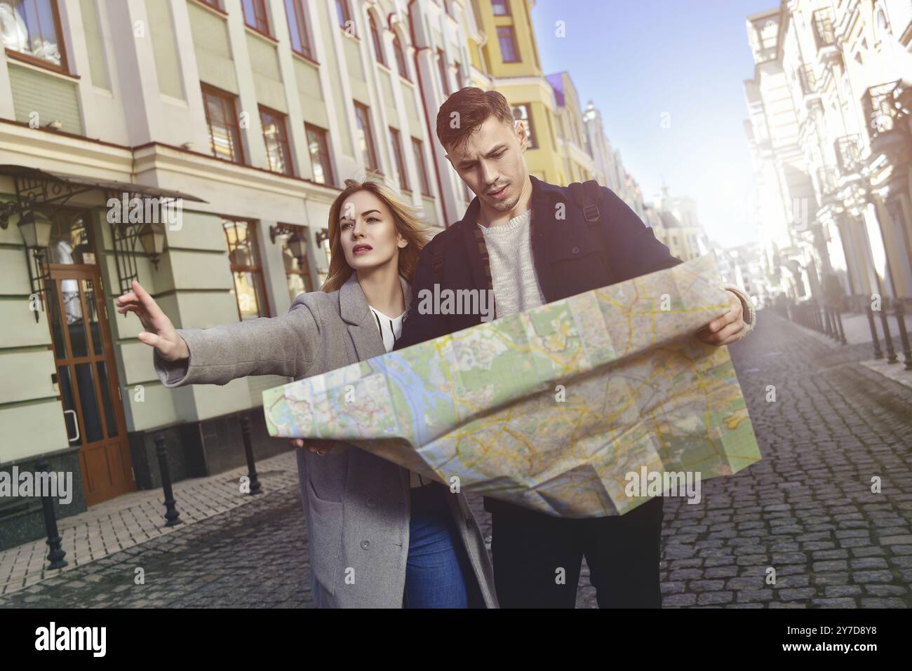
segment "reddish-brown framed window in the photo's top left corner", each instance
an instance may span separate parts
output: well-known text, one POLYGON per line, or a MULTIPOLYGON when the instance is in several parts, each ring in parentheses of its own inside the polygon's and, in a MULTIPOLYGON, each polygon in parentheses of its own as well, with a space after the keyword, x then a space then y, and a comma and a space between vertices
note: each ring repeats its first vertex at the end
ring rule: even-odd
POLYGON ((7 50, 44 66, 67 69, 54 0, 6 0, 0 5, 0 26, 0 41, 7 50))

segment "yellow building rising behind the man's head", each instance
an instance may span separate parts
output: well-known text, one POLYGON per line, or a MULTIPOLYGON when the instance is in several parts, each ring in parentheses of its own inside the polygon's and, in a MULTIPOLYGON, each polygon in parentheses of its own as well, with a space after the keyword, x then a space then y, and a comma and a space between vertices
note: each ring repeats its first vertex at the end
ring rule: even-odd
POLYGON ((530 174, 553 184, 572 181, 567 179, 564 153, 554 132, 558 105, 538 59, 531 3, 472 0, 472 7, 482 34, 487 36, 484 41, 470 42, 472 65, 483 73, 483 77, 473 77, 473 84, 503 93, 513 108, 513 118, 526 125, 530 144, 525 156, 530 174))

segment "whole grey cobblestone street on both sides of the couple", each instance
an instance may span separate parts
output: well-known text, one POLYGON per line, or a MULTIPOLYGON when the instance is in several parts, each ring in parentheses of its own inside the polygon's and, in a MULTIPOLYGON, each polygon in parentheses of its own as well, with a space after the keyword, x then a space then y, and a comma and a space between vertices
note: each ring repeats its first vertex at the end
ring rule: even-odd
MULTIPOLYGON (((665 502, 664 606, 912 605, 912 389, 857 363, 870 346, 834 345, 769 311, 731 356, 763 458, 705 481, 697 505, 665 502)), ((283 484, 0 606, 312 607, 306 563, 298 489, 283 484)), ((577 605, 596 605, 585 566, 577 605)))

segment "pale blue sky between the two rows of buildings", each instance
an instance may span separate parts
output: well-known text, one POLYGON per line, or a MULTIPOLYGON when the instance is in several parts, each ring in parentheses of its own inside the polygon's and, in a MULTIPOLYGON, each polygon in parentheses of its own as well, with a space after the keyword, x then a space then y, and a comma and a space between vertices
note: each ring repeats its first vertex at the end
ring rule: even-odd
POLYGON ((748 15, 779 0, 536 0, 544 74, 566 70, 602 113, 646 201, 662 181, 697 203, 710 239, 758 239, 748 222, 751 155, 742 82, 753 77, 748 15), (565 36, 555 36, 555 22, 565 36), (664 120, 664 123, 663 123, 664 120))

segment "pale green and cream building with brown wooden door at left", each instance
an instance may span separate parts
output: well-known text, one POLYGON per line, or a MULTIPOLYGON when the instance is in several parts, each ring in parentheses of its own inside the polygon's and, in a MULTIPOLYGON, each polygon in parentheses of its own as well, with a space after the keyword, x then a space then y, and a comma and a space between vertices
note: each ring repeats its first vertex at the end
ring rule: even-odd
MULTIPOLYGON (((75 514, 262 458, 264 388, 162 387, 138 279, 178 327, 284 314, 326 278, 327 216, 375 176, 432 226, 461 212, 430 112, 472 78, 471 5, 432 0, 16 0, 0 4, 0 469, 71 471, 75 514), (442 54, 442 60, 440 56, 442 54), (254 410, 254 411, 252 411, 254 410)), ((0 501, 0 537, 42 533, 0 501)))

